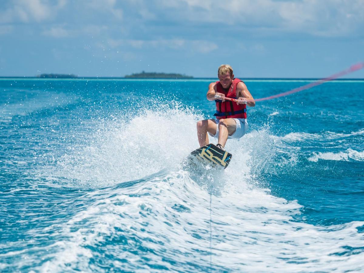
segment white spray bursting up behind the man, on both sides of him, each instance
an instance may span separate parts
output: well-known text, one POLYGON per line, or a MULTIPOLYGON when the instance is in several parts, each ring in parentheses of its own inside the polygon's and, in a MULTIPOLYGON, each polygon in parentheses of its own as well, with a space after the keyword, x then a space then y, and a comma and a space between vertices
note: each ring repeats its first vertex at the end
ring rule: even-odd
MULTIPOLYGON (((199 146, 196 122, 203 116, 179 104, 162 104, 159 109, 144 108, 131 118, 120 115, 99 120, 97 130, 77 136, 84 141, 68 146, 66 153, 51 160, 55 164, 42 167, 41 175, 50 181, 77 181, 77 185, 110 185, 161 169, 181 169, 183 159, 199 146)), ((210 137, 210 142, 217 143, 217 139, 210 137)), ((232 181, 240 181, 242 175, 251 180, 250 173, 268 170, 282 153, 277 143, 281 142, 270 135, 268 127, 248 133, 243 140, 229 140, 225 148, 234 160, 225 173, 232 181)), ((294 154, 285 152, 285 156, 287 153, 292 161, 294 154)))

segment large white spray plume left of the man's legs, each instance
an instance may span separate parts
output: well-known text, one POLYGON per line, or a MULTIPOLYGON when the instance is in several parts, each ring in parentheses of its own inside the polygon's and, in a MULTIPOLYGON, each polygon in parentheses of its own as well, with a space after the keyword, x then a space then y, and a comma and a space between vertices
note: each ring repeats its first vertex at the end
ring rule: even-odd
POLYGON ((97 129, 84 135, 84 143, 72 147, 50 171, 81 183, 107 185, 176 167, 198 146, 195 123, 201 118, 178 104, 145 109, 130 120, 113 115, 95 123, 97 129))

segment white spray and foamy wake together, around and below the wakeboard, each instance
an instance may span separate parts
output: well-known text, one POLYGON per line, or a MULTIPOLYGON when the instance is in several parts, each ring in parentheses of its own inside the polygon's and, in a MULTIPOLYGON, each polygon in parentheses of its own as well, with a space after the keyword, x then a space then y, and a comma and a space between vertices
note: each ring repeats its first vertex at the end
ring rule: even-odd
MULTIPOLYGON (((100 121, 88 142, 42 169, 77 185, 114 186, 82 196, 93 201, 67 222, 32 231, 57 231, 62 238, 39 249, 46 262, 37 270, 98 270, 92 262, 98 259, 124 270, 154 272, 364 270, 357 264, 363 252, 349 255, 362 247, 357 227, 364 222, 294 221, 302 206, 260 186, 256 174, 269 171, 277 157, 281 165, 299 160, 294 157, 299 147, 282 142, 292 135, 276 137, 269 127, 251 131, 244 141, 227 142, 233 160, 223 173, 196 177, 181 170, 182 159, 198 146, 195 122, 201 118, 188 108, 167 107, 130 120, 100 121)), ((298 139, 312 137, 318 136, 300 133, 298 139)))

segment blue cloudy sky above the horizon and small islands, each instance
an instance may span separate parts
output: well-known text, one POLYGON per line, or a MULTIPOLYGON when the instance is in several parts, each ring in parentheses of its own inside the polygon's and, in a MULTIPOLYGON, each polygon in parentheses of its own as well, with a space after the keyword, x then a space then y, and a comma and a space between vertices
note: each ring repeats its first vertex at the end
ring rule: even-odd
POLYGON ((323 78, 363 61, 364 0, 0 1, 0 76, 323 78))

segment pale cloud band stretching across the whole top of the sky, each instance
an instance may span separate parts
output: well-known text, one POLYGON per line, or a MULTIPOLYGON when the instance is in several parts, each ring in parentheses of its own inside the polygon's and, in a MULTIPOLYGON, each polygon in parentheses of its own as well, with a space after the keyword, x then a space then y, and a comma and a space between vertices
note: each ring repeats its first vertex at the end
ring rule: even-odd
MULTIPOLYGON (((113 36, 114 39, 132 37, 135 40, 124 42, 135 48, 158 45, 179 48, 181 40, 163 40, 167 32, 175 29, 176 35, 186 40, 203 39, 190 36, 187 27, 191 27, 193 34, 201 31, 208 34, 211 27, 220 30, 232 27, 237 35, 249 31, 257 37, 286 33, 359 36, 364 29, 363 11, 364 0, 9 0, 0 10, 0 23, 47 20, 55 24, 43 34, 53 37, 67 37, 77 32, 113 36), (66 21, 60 21, 61 17, 56 16, 61 9, 66 11, 62 16, 66 21), (67 26, 68 30, 59 25, 67 26), (147 33, 154 41, 141 42, 138 39, 147 38, 134 35, 138 32, 147 33)), ((14 25, 14 28, 18 27, 14 25)), ((5 33, 5 28, 2 29, 5 33)), ((171 36, 175 35, 169 34, 171 36)), ((216 44, 189 43, 189 46, 200 52, 211 52, 217 48, 216 44)))

